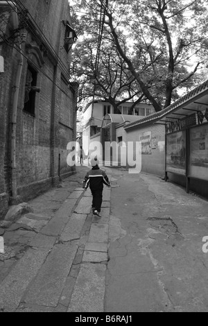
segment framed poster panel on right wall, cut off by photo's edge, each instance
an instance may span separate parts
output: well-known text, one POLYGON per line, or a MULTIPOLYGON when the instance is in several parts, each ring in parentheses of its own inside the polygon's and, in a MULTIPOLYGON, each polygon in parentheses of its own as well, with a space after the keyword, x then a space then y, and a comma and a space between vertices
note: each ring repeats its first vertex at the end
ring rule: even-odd
POLYGON ((189 175, 208 180, 208 124, 190 130, 189 175))

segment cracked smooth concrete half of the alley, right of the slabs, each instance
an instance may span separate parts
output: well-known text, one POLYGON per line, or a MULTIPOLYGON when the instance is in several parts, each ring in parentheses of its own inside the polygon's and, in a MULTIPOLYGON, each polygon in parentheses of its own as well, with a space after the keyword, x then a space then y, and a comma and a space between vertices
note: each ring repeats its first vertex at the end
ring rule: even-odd
POLYGON ((116 177, 106 311, 208 311, 208 202, 146 174, 116 177))

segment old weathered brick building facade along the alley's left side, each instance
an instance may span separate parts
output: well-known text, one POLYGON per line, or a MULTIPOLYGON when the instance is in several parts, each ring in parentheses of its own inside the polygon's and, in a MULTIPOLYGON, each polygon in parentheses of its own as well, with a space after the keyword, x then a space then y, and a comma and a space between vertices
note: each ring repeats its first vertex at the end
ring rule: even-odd
POLYGON ((2 2, 6 1, 0 1, 0 55, 4 58, 4 72, 0 72, 0 219, 5 216, 9 202, 15 200, 11 187, 10 144, 20 51, 18 33, 24 37, 15 171, 17 195, 22 200, 49 189, 60 176, 74 173, 73 167, 67 166, 67 144, 76 139, 77 95, 77 84, 69 76, 71 51, 64 41, 66 28, 71 26, 68 0, 12 1, 17 6, 20 27, 16 35, 13 35, 12 22, 15 8, 9 3, 1 6, 2 2), (28 80, 33 80, 30 93, 26 91, 28 80), (28 102, 26 93, 30 94, 28 102))

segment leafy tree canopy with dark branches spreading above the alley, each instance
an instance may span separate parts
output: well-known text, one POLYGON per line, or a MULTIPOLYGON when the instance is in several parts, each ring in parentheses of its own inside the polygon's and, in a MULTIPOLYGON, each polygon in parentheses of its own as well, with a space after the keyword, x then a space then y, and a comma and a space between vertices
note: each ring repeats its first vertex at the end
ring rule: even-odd
POLYGON ((86 96, 146 98, 159 111, 200 80, 206 1, 76 0, 72 9, 80 35, 72 72, 86 96))

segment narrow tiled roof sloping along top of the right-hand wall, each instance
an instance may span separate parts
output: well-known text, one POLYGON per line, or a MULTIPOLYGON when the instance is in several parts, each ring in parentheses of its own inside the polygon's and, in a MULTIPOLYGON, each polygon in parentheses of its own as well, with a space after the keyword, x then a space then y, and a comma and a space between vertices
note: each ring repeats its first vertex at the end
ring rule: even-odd
POLYGON ((150 114, 148 117, 145 117, 144 119, 128 123, 128 125, 126 125, 124 127, 124 129, 132 128, 132 127, 141 125, 142 123, 146 123, 146 122, 149 122, 149 121, 158 120, 158 119, 164 117, 164 115, 166 115, 166 114, 172 112, 173 110, 175 110, 177 107, 179 107, 183 103, 189 101, 191 98, 194 98, 196 95, 198 95, 198 94, 200 94, 202 92, 205 92, 206 90, 208 91, 208 80, 206 80, 204 83, 202 83, 198 87, 192 89, 191 92, 185 94, 179 100, 175 101, 174 103, 169 105, 164 110, 153 113, 153 114, 150 114))

